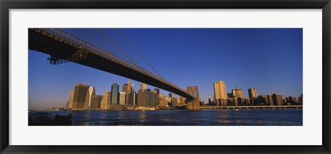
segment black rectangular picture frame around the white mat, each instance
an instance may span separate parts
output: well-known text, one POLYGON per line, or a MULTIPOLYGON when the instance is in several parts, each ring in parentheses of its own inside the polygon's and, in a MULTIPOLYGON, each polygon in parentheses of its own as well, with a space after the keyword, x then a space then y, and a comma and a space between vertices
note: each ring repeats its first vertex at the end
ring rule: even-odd
MULTIPOLYGON (((330 153, 330 0, 1 0, 1 153, 330 153), (12 146, 9 141, 10 9, 312 9, 323 12, 322 146, 12 146)), ((221 140, 221 139, 219 139, 221 140)))

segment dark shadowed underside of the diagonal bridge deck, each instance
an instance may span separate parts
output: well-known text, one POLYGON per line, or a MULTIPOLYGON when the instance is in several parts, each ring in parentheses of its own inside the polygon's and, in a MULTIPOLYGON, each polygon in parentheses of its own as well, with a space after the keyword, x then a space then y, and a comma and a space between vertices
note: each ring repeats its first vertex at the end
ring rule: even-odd
POLYGON ((74 47, 72 45, 69 45, 68 43, 57 41, 50 36, 41 34, 34 30, 29 29, 28 35, 29 50, 35 50, 38 52, 49 54, 52 58, 55 59, 72 61, 74 63, 79 63, 81 65, 86 65, 88 67, 102 70, 104 72, 109 72, 126 78, 131 78, 132 80, 137 80, 139 82, 146 83, 154 87, 159 87, 166 91, 170 91, 174 94, 178 94, 179 96, 188 98, 188 100, 194 100, 192 96, 177 89, 176 87, 163 83, 160 80, 143 74, 138 70, 127 67, 126 65, 120 65, 119 63, 110 61, 110 59, 108 58, 93 54, 92 52, 86 52, 84 51, 84 49, 74 47))

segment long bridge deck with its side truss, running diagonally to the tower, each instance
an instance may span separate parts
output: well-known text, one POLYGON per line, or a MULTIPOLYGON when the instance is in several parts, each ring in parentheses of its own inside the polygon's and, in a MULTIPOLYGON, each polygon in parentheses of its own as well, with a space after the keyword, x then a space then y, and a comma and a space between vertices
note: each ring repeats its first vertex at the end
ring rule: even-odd
POLYGON ((170 83, 168 80, 62 30, 30 28, 28 35, 29 50, 35 50, 59 59, 131 78, 132 80, 170 91, 184 98, 194 99, 194 96, 189 94, 188 91, 170 83))

